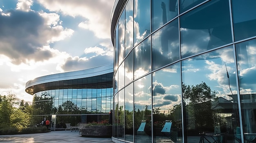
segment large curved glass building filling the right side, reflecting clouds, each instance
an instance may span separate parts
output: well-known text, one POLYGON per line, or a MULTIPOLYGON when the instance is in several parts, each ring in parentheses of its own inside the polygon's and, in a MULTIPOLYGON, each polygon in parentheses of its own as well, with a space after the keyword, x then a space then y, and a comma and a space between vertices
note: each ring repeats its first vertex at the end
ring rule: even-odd
POLYGON ((256 1, 116 0, 114 142, 256 142, 256 1))

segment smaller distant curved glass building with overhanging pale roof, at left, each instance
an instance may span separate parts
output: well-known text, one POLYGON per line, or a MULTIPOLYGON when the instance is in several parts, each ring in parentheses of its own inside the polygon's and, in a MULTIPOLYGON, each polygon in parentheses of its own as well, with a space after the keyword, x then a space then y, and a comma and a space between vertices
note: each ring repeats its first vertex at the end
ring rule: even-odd
POLYGON ((76 126, 108 120, 113 108, 112 79, 113 64, 106 64, 28 81, 26 92, 33 95, 34 123, 53 118, 55 128, 66 128, 65 123, 76 126))

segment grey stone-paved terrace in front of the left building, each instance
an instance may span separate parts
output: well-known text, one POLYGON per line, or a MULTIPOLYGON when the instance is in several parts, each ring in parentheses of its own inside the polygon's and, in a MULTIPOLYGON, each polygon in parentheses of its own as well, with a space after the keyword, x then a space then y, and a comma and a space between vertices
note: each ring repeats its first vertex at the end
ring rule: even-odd
POLYGON ((0 143, 113 143, 111 138, 82 137, 79 132, 52 131, 40 134, 0 135, 0 143))

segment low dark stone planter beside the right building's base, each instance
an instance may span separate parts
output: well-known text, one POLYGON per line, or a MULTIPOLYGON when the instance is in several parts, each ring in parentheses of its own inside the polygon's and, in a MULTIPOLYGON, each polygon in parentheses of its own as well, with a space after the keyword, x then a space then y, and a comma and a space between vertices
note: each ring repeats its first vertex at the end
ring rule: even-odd
POLYGON ((79 130, 84 137, 111 138, 112 136, 112 125, 90 125, 89 128, 79 130))

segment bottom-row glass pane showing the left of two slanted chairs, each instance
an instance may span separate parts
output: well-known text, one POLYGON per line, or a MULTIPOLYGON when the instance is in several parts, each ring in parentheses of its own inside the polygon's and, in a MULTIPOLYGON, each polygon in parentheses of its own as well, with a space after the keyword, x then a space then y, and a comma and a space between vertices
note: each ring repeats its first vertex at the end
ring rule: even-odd
POLYGON ((135 134, 135 143, 151 143, 151 112, 152 112, 152 95, 151 95, 151 74, 137 81, 134 81, 134 132, 143 132, 135 134), (139 129, 140 125, 144 125, 144 130, 139 129), (147 136, 147 140, 144 137, 147 136))

